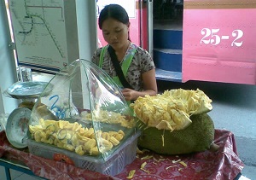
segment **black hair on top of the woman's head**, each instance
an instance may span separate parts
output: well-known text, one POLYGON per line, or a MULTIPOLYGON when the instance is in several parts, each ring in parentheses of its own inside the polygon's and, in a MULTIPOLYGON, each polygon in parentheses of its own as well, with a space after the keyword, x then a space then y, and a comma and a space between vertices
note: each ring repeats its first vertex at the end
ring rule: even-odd
POLYGON ((129 16, 126 10, 120 6, 119 4, 109 4, 102 9, 99 16, 99 27, 102 29, 102 24, 104 20, 108 18, 113 18, 114 20, 118 20, 119 22, 124 23, 125 25, 129 25, 129 16))

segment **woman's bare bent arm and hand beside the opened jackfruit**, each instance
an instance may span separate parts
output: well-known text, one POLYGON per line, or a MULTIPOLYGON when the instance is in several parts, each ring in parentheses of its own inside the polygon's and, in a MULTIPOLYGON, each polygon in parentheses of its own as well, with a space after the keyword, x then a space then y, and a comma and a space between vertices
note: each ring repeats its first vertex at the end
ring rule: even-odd
POLYGON ((137 100, 139 96, 155 96, 157 94, 157 84, 155 79, 155 69, 142 74, 143 78, 143 91, 136 91, 125 88, 122 90, 123 96, 126 101, 137 100))

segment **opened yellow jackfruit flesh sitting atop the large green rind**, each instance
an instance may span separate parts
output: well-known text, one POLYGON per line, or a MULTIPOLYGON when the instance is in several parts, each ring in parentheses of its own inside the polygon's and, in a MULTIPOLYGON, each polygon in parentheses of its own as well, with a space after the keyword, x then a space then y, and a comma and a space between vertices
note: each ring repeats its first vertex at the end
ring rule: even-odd
POLYGON ((189 126, 191 115, 212 110, 212 100, 202 90, 166 90, 157 96, 139 97, 131 104, 137 118, 148 127, 177 131, 189 126))

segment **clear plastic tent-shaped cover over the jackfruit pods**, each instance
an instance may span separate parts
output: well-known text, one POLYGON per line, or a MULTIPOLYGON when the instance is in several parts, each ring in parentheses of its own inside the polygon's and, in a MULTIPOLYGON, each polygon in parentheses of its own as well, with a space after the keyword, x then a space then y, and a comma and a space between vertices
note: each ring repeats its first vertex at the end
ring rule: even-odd
POLYGON ((107 160, 135 133, 133 113, 118 85, 94 63, 73 61, 49 85, 48 96, 40 96, 32 109, 29 138, 107 160))

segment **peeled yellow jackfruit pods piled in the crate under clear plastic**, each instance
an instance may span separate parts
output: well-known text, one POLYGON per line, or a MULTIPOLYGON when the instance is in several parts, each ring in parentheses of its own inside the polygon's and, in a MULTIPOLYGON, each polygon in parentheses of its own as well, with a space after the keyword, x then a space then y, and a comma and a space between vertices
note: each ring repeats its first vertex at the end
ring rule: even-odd
POLYGON ((36 142, 52 144, 79 155, 98 155, 110 151, 125 136, 122 130, 95 131, 92 127, 82 127, 78 122, 50 119, 39 119, 39 125, 29 125, 29 131, 36 142))

